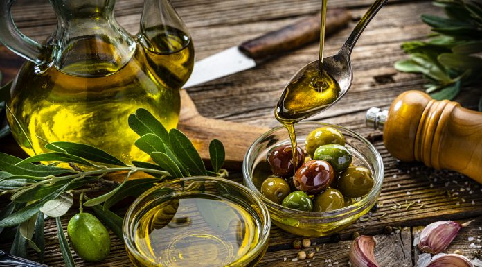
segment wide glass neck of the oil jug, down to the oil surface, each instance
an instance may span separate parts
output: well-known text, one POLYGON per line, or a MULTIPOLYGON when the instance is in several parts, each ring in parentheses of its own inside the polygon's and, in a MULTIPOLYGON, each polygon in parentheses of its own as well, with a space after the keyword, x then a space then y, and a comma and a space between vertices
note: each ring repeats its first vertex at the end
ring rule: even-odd
POLYGON ((48 41, 53 65, 75 76, 107 76, 122 68, 135 42, 114 19, 113 0, 51 0, 57 31, 48 41))

